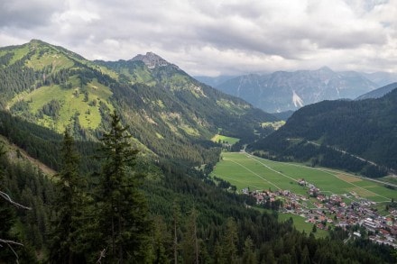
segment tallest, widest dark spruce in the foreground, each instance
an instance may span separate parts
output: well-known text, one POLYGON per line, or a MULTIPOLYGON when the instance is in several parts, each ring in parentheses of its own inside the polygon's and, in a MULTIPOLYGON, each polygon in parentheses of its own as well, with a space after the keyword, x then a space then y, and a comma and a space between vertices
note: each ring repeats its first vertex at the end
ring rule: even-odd
POLYGON ((101 139, 103 164, 97 201, 105 259, 142 263, 148 258, 151 223, 146 199, 139 190, 143 175, 134 172, 138 150, 132 148, 131 136, 118 114, 110 117, 110 132, 101 139))

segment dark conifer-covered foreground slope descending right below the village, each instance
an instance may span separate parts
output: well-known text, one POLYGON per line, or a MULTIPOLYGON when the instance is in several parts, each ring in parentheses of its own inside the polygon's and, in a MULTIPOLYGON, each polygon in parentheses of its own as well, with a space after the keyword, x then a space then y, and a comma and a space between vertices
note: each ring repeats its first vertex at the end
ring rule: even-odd
MULTIPOLYGON (((61 141, 54 147, 62 150, 61 141)), ((10 154, 13 153, 2 155, 0 159, 1 190, 32 210, 18 209, 0 199, 0 239, 23 243, 23 247, 13 245, 20 263, 47 262, 49 256, 58 254, 51 248, 52 230, 56 223, 54 217, 60 214, 55 209, 60 206, 59 188, 63 185, 54 186, 54 181, 23 159, 11 161, 7 158, 10 154)), ((81 163, 94 159, 81 152, 80 155, 81 163)), ((65 157, 72 156, 60 155, 57 164, 64 164, 65 157)), ((159 164, 160 167, 148 171, 150 166, 141 162, 135 163, 134 170, 147 175, 140 189, 151 219, 148 223, 150 240, 142 248, 147 249, 144 258, 152 263, 171 263, 175 256, 183 263, 194 263, 196 256, 200 263, 392 263, 395 260, 391 248, 366 240, 344 244, 347 233, 342 230, 331 232, 331 239, 316 240, 312 234, 297 232, 291 221, 279 223, 276 213, 261 214, 247 209, 246 205, 254 205, 252 198, 216 187, 205 171, 185 171, 167 164, 159 164)), ((102 241, 102 232, 96 225, 95 215, 100 207, 92 204, 92 199, 97 199, 96 188, 102 172, 99 167, 89 172, 81 168, 76 172, 86 180, 78 184, 75 192, 82 195, 83 203, 77 206, 78 212, 82 210, 85 217, 78 217, 78 236, 72 241, 71 249, 78 263, 86 263, 100 258, 106 241, 102 241)), ((64 169, 61 167, 60 176, 64 169)), ((55 249, 60 252, 60 248, 55 249)), ((15 258, 12 250, 0 250, 2 261, 13 262, 15 258)), ((110 252, 101 260, 108 258, 112 258, 110 252)))

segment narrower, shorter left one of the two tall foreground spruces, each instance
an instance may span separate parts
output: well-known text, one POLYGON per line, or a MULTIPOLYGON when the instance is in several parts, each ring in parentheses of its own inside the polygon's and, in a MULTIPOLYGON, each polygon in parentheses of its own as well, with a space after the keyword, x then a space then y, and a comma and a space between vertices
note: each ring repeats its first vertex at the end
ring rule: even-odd
POLYGON ((78 172, 79 157, 69 130, 65 130, 61 148, 62 165, 55 181, 58 196, 53 206, 51 222, 51 263, 81 262, 75 247, 79 229, 82 195, 81 178, 78 172))

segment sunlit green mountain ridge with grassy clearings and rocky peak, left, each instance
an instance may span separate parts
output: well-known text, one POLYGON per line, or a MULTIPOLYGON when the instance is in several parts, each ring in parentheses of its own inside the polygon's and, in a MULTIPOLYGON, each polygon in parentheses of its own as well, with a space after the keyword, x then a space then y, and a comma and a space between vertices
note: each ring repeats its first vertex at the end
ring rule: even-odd
POLYGON ((152 52, 90 61, 37 40, 0 49, 0 93, 0 110, 80 140, 95 141, 116 110, 142 150, 189 164, 217 159, 217 132, 252 138, 275 120, 152 52))

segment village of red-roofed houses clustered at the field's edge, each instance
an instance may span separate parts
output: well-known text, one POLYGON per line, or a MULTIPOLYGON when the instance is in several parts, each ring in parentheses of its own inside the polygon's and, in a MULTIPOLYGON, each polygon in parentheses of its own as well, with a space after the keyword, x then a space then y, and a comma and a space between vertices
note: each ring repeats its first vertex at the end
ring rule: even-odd
POLYGON ((254 196, 257 205, 279 210, 283 214, 304 217, 305 222, 315 225, 313 229, 328 230, 338 226, 350 231, 347 240, 368 237, 371 241, 397 249, 396 207, 387 206, 387 214, 380 214, 374 206, 376 203, 358 196, 355 192, 340 196, 328 194, 329 192, 321 192, 319 187, 303 178, 298 180, 298 184, 307 188, 307 196, 294 194, 289 190, 250 191, 245 188, 242 192, 254 196), (277 208, 272 206, 274 203, 277 208))

